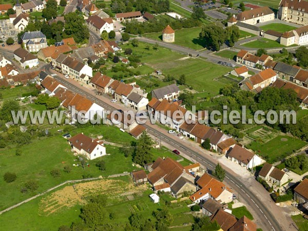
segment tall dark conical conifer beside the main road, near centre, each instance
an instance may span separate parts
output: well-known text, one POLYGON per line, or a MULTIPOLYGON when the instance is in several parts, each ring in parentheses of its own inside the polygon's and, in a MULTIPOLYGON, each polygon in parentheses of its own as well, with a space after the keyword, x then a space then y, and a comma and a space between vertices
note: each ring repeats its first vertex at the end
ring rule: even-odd
POLYGON ((151 138, 146 131, 143 131, 132 156, 133 162, 140 165, 149 163, 152 160, 151 145, 151 138))

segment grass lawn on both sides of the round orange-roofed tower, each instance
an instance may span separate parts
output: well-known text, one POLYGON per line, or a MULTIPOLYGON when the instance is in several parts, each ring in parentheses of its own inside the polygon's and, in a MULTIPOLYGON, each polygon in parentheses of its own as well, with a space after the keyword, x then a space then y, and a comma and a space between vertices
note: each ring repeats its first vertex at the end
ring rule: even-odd
MULTIPOLYGON (((189 28, 189 29, 181 29, 176 30, 175 33, 175 42, 174 44, 188 47, 191 49, 203 49, 205 47, 204 40, 199 38, 199 33, 201 31, 201 27, 189 28)), ((146 33, 143 34, 145 37, 149 37, 155 40, 162 41, 162 33, 146 33)))

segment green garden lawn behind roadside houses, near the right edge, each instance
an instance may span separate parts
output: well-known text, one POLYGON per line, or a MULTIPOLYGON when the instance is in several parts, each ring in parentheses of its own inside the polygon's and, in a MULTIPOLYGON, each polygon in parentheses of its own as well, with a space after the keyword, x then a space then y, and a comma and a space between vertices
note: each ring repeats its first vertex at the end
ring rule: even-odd
POLYGON ((278 160, 282 160, 288 155, 291 155, 306 144, 307 143, 304 141, 289 136, 277 136, 263 144, 253 141, 247 145, 247 148, 254 150, 258 155, 265 157, 267 162, 272 164, 278 160), (283 141, 284 139, 287 140, 283 141))

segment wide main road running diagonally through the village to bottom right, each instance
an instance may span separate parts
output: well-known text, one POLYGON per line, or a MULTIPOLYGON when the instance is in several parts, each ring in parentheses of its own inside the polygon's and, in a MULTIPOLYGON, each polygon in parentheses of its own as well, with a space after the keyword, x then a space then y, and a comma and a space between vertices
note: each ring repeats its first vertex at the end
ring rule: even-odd
MULTIPOLYGON (((50 65, 46 65, 45 67, 47 73, 56 73, 54 70, 50 69, 50 65)), ((67 80, 63 78, 62 74, 57 74, 59 76, 54 76, 54 78, 67 86, 68 89, 85 95, 90 100, 93 100, 97 104, 103 106, 105 110, 116 110, 119 108, 124 110, 127 109, 120 104, 116 104, 117 108, 115 108, 115 104, 111 104, 110 100, 106 97, 95 96, 93 90, 82 87, 74 80, 67 80)), ((186 155, 186 157, 196 157, 198 161, 210 171, 213 170, 214 166, 217 164, 217 159, 210 156, 211 152, 203 149, 201 150, 195 143, 194 146, 192 146, 192 144, 188 145, 182 140, 179 140, 176 136, 171 136, 166 133, 164 129, 150 124, 149 122, 147 122, 144 126, 147 127, 150 134, 160 137, 164 143, 173 145, 173 147, 177 146, 181 153, 186 155)), ((235 174, 232 169, 229 169, 227 166, 224 167, 226 169, 226 184, 233 188, 235 194, 240 197, 241 201, 247 204, 248 208, 252 209, 256 223, 259 227, 263 230, 296 230, 290 216, 288 216, 282 208, 275 205, 269 197, 268 192, 256 180, 253 178, 242 179, 241 176, 235 174), (240 195, 238 195, 238 192, 240 195)))

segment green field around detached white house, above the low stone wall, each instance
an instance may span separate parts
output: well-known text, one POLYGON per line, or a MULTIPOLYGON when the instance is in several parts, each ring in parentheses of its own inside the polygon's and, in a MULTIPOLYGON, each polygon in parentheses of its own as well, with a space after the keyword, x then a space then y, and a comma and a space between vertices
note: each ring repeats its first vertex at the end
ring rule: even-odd
MULTIPOLYGON (((51 130, 51 133, 56 133, 56 129, 51 130)), ((72 130, 70 133, 72 136, 84 132, 84 134, 97 137, 103 135, 103 139, 109 142, 123 144, 125 146, 130 145, 130 142, 134 140, 128 133, 123 133, 119 128, 115 126, 101 125, 101 126, 89 126, 86 128, 78 128, 72 130)), ((124 171, 130 172, 136 167, 132 166, 131 157, 125 158, 123 153, 119 151, 119 147, 105 145, 106 153, 110 154, 102 157, 106 163, 106 170, 101 172, 95 163, 100 159, 88 161, 90 167, 82 169, 82 167, 72 167, 72 171, 65 173, 63 167, 65 165, 77 164, 74 159, 73 153, 70 151, 70 147, 67 140, 62 138, 61 134, 55 134, 53 137, 33 140, 31 144, 24 145, 22 148, 22 155, 15 155, 15 148, 8 147, 2 149, 0 155, 0 176, 2 177, 5 172, 14 172, 17 175, 16 181, 12 183, 6 183, 0 181, 0 195, 2 199, 0 201, 0 209, 9 207, 15 203, 25 200, 33 194, 28 192, 22 194, 20 192, 24 183, 30 179, 35 179, 38 183, 38 189, 34 194, 42 192, 54 185, 60 184, 66 180, 82 179, 83 175, 87 177, 107 177, 113 174, 119 174, 124 171), (60 169, 61 177, 53 178, 50 175, 50 171, 54 168, 60 169)), ((170 157, 174 160, 178 160, 180 157, 172 153, 166 148, 152 149, 153 160, 156 160, 159 156, 170 157)), ((183 165, 188 165, 190 162, 184 159, 180 162, 183 165)))

